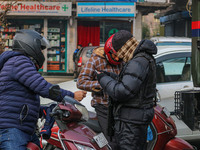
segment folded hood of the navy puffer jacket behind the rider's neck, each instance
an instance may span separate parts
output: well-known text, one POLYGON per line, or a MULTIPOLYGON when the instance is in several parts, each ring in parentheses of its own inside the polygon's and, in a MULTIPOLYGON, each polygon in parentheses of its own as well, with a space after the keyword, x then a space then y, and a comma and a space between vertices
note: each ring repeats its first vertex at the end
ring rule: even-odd
POLYGON ((18 56, 18 55, 23 55, 20 52, 15 52, 15 51, 5 51, 0 55, 0 70, 3 68, 5 62, 14 56, 18 56))

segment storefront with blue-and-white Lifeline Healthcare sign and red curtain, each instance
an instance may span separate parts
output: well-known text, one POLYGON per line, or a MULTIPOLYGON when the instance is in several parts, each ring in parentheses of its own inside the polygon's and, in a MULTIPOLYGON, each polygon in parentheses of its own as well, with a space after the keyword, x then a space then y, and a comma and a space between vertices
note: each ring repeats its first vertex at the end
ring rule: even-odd
MULTIPOLYGON (((81 1, 81 0, 80 0, 81 1)), ((103 46, 106 40, 119 30, 134 32, 135 3, 123 2, 78 2, 77 41, 87 46, 103 46)))

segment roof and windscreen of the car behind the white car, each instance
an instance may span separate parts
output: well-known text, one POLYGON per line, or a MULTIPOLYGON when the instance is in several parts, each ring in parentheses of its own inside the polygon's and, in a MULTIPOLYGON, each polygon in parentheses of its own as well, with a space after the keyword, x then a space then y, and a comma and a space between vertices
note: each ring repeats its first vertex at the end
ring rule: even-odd
POLYGON ((188 37, 158 36, 150 39, 156 46, 191 46, 192 39, 188 37))

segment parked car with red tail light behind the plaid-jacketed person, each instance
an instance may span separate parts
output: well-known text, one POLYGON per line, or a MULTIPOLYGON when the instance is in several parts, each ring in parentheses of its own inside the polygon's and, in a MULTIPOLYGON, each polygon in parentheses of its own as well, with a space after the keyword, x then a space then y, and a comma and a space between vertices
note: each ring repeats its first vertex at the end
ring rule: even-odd
POLYGON ((90 59, 94 48, 98 46, 83 47, 77 53, 75 58, 74 79, 78 77, 85 63, 90 59))

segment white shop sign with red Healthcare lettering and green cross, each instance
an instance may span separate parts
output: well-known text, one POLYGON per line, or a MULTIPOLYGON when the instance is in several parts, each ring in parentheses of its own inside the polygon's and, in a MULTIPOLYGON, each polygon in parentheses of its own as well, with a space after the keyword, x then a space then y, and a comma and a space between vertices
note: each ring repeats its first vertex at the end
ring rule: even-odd
MULTIPOLYGON (((0 12, 9 1, 0 1, 0 12)), ((25 2, 19 1, 11 7, 8 15, 15 16, 71 16, 71 2, 25 2)))

